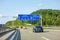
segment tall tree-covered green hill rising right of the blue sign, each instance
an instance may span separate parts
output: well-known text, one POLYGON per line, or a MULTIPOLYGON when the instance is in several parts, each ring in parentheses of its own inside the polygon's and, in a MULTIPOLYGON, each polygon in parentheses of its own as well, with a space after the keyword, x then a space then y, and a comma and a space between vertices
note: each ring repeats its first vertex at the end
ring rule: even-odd
POLYGON ((60 25, 60 10, 40 9, 32 12, 32 14, 40 14, 42 16, 43 25, 60 25))

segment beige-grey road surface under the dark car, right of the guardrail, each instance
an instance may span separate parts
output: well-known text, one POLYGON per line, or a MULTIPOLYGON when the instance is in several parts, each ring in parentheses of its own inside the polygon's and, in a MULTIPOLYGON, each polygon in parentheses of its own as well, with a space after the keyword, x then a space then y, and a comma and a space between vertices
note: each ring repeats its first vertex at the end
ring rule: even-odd
POLYGON ((21 29, 21 40, 60 40, 60 30, 46 29, 44 32, 34 33, 31 29, 21 29))

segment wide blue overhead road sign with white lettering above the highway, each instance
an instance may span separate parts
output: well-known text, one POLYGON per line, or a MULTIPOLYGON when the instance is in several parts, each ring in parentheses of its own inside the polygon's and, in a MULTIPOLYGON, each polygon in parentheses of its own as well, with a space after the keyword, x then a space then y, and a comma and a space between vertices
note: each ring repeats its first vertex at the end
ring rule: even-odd
POLYGON ((39 14, 29 14, 29 15, 19 14, 18 19, 19 20, 40 20, 40 15, 39 14))

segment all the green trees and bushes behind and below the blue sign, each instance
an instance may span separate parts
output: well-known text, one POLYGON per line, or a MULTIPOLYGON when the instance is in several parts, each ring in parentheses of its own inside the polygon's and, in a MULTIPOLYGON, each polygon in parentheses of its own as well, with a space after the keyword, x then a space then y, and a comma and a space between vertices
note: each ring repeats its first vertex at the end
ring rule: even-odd
MULTIPOLYGON (((31 14, 39 14, 42 16, 42 25, 43 26, 60 26, 60 10, 55 9, 40 9, 32 12, 31 14)), ((7 26, 12 26, 12 22, 14 22, 14 26, 27 26, 26 24, 37 25, 41 23, 41 20, 16 20, 6 22, 7 26)), ((28 25, 29 26, 29 25, 28 25)))

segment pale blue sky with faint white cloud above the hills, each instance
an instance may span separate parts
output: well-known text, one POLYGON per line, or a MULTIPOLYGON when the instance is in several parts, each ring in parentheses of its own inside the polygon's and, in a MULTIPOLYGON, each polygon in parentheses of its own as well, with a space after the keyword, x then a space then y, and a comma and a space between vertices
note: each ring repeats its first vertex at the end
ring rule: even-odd
POLYGON ((30 14, 39 9, 60 10, 60 0, 0 0, 0 24, 14 20, 13 16, 18 14, 30 14))

